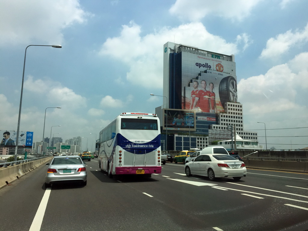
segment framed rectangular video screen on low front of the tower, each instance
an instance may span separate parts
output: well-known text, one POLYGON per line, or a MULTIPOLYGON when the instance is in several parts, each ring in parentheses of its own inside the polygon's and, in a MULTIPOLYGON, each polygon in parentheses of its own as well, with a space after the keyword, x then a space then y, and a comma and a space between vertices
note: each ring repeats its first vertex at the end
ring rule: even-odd
POLYGON ((196 131, 196 114, 193 110, 163 109, 163 128, 168 130, 196 131))

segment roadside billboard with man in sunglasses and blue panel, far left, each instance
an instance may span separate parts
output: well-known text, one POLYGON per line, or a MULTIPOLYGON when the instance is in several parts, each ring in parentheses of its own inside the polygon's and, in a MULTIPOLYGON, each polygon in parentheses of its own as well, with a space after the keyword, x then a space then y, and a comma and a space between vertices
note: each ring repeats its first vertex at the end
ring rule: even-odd
MULTIPOLYGON (((16 135, 15 131, 1 131, 3 134, 3 139, 1 140, 0 146, 13 148, 16 145, 16 135)), ((32 148, 33 144, 33 132, 19 132, 18 137, 18 147, 32 148)))

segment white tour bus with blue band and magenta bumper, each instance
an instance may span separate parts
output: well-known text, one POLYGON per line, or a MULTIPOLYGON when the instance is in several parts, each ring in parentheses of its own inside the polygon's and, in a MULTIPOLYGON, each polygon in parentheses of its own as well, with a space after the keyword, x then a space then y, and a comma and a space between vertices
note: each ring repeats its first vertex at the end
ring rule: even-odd
POLYGON ((99 133, 98 167, 113 175, 161 173, 156 114, 123 112, 99 133))

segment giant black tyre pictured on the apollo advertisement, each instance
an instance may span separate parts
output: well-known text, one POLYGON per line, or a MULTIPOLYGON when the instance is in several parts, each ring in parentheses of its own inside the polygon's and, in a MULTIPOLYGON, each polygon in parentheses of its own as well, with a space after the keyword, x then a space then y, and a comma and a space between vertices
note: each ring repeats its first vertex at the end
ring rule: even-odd
POLYGON ((226 102, 237 102, 237 83, 233 76, 221 79, 219 83, 219 98, 224 106, 226 102))

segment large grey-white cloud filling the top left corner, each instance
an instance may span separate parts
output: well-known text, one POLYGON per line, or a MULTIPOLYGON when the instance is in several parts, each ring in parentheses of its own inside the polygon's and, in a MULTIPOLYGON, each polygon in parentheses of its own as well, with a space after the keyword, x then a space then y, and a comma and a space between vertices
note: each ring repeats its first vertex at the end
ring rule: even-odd
POLYGON ((62 30, 86 22, 89 16, 78 0, 2 0, 0 31, 6 36, 0 36, 0 46, 33 44, 33 41, 62 44, 62 30))

